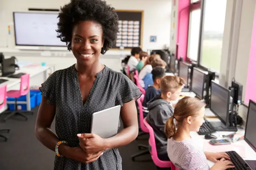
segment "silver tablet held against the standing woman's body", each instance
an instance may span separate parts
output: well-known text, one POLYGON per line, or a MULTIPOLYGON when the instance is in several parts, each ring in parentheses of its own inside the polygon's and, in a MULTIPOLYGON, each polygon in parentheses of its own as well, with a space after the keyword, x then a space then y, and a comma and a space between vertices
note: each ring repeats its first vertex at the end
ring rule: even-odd
POLYGON ((121 105, 93 113, 91 133, 101 138, 110 138, 117 134, 121 105))

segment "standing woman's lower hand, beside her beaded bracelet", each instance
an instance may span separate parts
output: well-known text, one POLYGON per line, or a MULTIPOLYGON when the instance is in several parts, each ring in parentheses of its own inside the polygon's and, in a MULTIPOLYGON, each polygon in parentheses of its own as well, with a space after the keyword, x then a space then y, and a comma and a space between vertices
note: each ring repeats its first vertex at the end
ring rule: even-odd
POLYGON ((97 153, 85 153, 81 147, 69 147, 65 153, 64 156, 70 159, 73 159, 75 161, 79 161, 81 163, 90 163, 93 161, 96 161, 99 159, 100 156, 102 156, 103 152, 99 151, 97 153))

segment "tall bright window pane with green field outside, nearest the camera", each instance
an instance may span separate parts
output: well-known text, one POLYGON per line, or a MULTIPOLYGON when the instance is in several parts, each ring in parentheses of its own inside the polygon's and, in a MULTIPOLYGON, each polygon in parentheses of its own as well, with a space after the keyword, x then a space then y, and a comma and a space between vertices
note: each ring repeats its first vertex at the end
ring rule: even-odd
POLYGON ((200 65, 220 71, 227 0, 206 0, 200 65), (218 9, 216 12, 216 9, 218 9))

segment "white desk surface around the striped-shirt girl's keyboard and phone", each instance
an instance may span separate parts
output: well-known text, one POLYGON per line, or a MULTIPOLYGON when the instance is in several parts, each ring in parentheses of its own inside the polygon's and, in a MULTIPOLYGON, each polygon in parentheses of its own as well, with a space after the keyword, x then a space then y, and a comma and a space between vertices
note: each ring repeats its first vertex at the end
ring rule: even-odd
MULTIPOLYGON (((220 121, 217 118, 207 118, 207 120, 209 120, 210 122, 213 121, 220 121)), ((215 136, 219 136, 218 139, 222 138, 222 135, 227 135, 233 132, 217 132, 217 133, 212 133, 215 136)), ((204 139, 204 135, 198 135, 198 133, 196 132, 191 132, 190 136, 193 138, 193 140, 195 140, 198 143, 199 147, 204 147, 204 142, 205 141, 209 141, 204 139)), ((243 158, 244 160, 256 160, 256 152, 254 152, 254 150, 247 144, 247 142, 245 142, 244 140, 235 142, 234 144, 236 145, 243 145, 245 147, 245 153, 246 153, 246 158, 243 158)), ((212 167, 212 165, 214 164, 212 161, 207 160, 207 163, 209 164, 209 167, 212 167)))

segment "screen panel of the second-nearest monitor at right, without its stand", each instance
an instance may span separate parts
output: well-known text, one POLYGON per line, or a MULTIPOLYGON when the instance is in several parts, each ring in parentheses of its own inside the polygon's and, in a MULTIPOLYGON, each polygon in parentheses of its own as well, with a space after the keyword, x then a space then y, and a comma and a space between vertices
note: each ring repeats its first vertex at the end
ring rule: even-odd
POLYGON ((212 81, 211 85, 211 102, 210 110, 223 122, 225 125, 228 122, 229 105, 231 91, 218 83, 212 81))

